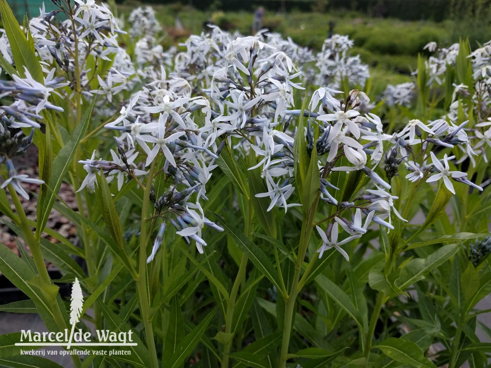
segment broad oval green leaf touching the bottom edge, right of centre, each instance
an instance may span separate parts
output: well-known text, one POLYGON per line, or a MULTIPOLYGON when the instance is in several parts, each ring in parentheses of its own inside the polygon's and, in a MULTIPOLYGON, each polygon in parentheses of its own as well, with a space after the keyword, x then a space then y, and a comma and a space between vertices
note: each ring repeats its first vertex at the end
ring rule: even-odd
POLYGON ((414 342, 388 338, 373 348, 381 349, 389 358, 399 363, 409 364, 411 367, 436 368, 430 360, 423 356, 423 352, 414 342))

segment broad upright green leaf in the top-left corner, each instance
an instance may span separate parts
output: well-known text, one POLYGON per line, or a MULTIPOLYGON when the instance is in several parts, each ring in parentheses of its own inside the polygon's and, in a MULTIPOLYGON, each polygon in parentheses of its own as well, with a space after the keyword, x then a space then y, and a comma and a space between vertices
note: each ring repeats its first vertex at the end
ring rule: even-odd
POLYGON ((17 72, 21 77, 25 77, 25 66, 32 78, 38 82, 43 82, 43 70, 34 49, 29 45, 26 35, 5 0, 0 0, 0 14, 17 72))

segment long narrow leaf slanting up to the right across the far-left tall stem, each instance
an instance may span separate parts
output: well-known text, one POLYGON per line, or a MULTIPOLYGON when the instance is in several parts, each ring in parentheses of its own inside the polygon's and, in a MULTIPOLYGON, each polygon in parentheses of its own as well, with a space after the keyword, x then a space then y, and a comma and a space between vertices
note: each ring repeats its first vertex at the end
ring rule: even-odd
POLYGON ((75 131, 73 132, 70 141, 68 141, 65 146, 63 146, 63 148, 60 150, 60 152, 58 152, 58 155, 56 155, 53 161, 53 169, 50 182, 48 184, 46 197, 44 198, 42 203, 38 203, 38 206, 42 207, 42 211, 40 212, 40 216, 38 216, 36 234, 40 234, 46 227, 46 223, 48 221, 48 217, 50 216, 51 209, 53 208, 53 204, 55 203, 56 196, 58 195, 61 182, 63 182, 65 173, 67 172, 70 165, 73 163, 73 158, 75 157, 77 147, 83 135, 85 134, 85 131, 87 130, 90 118, 92 116, 92 109, 94 108, 95 101, 96 99, 94 98, 92 104, 85 110, 82 121, 77 126, 77 129, 75 129, 75 131))

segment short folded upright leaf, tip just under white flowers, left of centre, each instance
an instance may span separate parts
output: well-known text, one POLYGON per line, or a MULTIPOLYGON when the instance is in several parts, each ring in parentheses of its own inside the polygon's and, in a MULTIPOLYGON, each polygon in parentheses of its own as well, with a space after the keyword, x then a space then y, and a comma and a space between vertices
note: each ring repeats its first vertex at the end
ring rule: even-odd
POLYGON ((119 215, 116 211, 116 206, 114 206, 114 201, 112 200, 108 182, 104 177, 102 170, 101 175, 99 175, 97 172, 94 172, 94 174, 97 180, 95 194, 97 196, 97 202, 99 202, 102 217, 104 218, 104 222, 109 229, 109 234, 119 246, 120 251, 124 252, 123 230, 121 229, 121 222, 119 221, 119 215))

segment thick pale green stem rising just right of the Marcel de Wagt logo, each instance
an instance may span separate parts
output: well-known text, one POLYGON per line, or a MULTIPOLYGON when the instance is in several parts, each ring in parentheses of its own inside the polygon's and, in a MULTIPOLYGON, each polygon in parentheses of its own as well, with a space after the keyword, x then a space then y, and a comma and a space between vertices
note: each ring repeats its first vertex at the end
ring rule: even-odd
POLYGON ((148 278, 147 278, 147 224, 145 218, 149 209, 150 191, 152 189, 153 172, 155 169, 154 159, 148 173, 148 181, 143 194, 143 205, 141 208, 141 228, 140 228, 140 247, 139 247, 139 265, 138 265, 138 280, 136 288, 138 289, 138 298, 140 302, 141 320, 145 327, 145 335, 147 338, 148 352, 150 353, 150 361, 152 368, 159 367, 157 358, 157 350, 155 348, 155 337, 152 328, 152 321, 149 318, 149 300, 148 300, 148 278))

